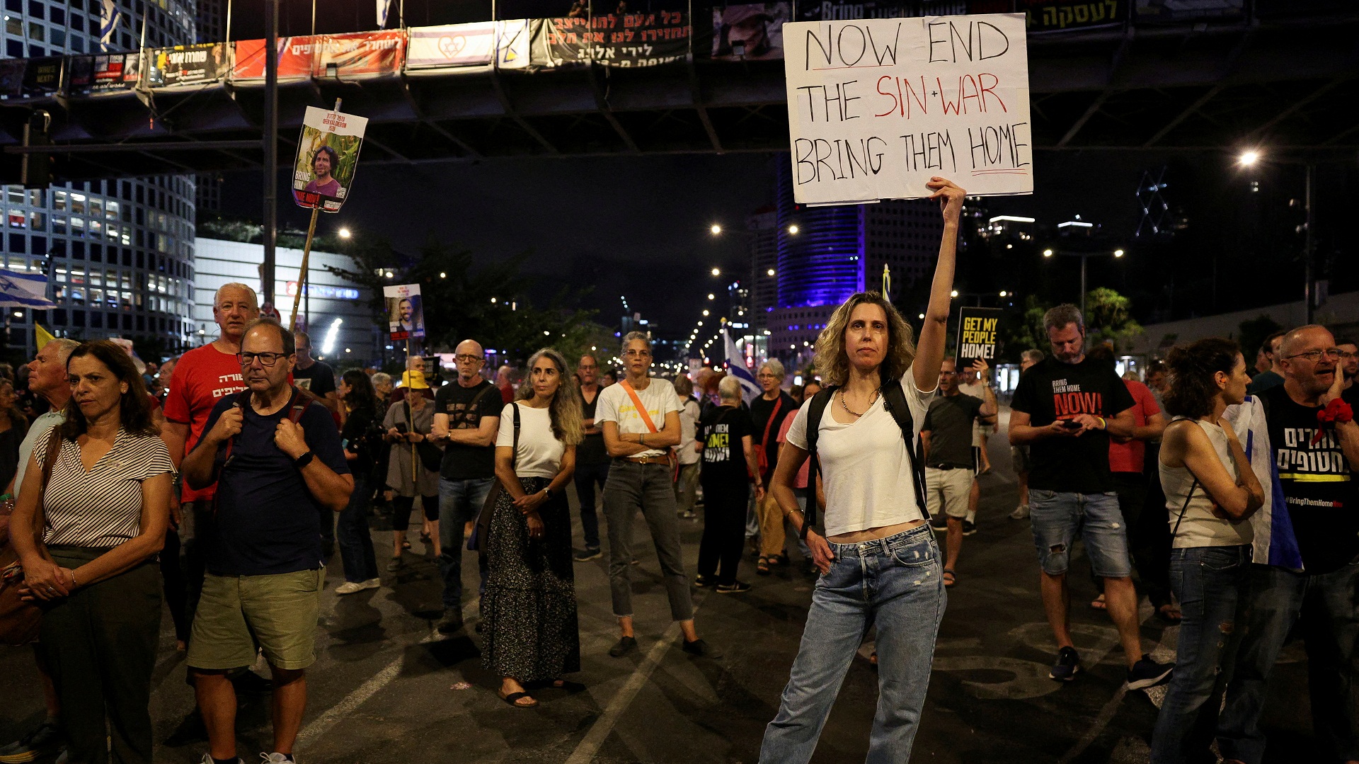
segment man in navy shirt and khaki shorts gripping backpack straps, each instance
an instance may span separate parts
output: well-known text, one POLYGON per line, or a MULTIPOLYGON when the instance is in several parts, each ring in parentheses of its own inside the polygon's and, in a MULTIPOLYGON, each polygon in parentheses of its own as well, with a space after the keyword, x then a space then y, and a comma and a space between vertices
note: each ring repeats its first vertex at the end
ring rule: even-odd
POLYGON ((342 510, 353 491, 330 412, 288 383, 292 334, 253 321, 236 358, 246 390, 213 406, 181 465, 193 488, 217 483, 217 533, 188 655, 208 727, 205 764, 239 761, 227 672, 253 663, 257 642, 273 672, 273 750, 264 756, 292 760, 325 582, 318 510, 342 510))

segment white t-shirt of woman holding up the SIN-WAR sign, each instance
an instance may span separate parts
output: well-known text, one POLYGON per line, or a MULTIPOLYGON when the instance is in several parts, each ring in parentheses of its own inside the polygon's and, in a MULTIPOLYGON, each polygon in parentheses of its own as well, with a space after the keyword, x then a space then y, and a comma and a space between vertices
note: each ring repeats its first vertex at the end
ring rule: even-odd
MULTIPOLYGON (((915 423, 913 436, 919 438, 934 390, 917 390, 909 368, 901 377, 901 389, 915 423)), ((810 402, 807 398, 798 409, 787 435, 787 442, 802 450, 807 449, 810 402)), ((836 394, 821 415, 817 440, 826 491, 826 536, 924 519, 916 504, 916 479, 911 473, 906 440, 892 412, 883 406, 882 396, 851 424, 836 421, 832 406, 839 405, 836 394)))

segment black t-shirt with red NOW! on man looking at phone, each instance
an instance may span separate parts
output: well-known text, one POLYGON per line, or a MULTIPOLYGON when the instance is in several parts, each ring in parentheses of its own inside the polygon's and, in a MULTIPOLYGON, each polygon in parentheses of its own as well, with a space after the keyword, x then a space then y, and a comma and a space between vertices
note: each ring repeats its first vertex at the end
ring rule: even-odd
MULTIPOLYGON (((1048 356, 1019 378, 1010 408, 1029 415, 1034 427, 1079 413, 1112 419, 1136 405, 1128 386, 1106 362, 1061 363, 1048 356)), ((1067 493, 1113 491, 1109 434, 1091 430, 1079 438, 1044 438, 1029 445, 1029 488, 1067 493)))

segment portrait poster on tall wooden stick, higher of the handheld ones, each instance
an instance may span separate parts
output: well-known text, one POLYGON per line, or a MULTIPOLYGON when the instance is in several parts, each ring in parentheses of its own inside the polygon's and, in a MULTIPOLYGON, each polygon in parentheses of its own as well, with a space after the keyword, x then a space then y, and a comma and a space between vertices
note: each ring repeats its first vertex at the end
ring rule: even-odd
POLYGON ((299 207, 340 212, 359 169, 366 117, 307 106, 292 167, 292 197, 299 207))

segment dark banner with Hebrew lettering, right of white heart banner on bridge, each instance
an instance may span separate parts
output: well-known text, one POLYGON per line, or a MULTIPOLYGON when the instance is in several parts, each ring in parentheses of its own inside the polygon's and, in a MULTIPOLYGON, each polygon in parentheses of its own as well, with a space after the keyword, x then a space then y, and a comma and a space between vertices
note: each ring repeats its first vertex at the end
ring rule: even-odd
POLYGON ((689 19, 682 11, 542 19, 534 30, 534 64, 560 67, 595 61, 605 67, 658 67, 689 56, 689 19), (537 57, 542 60, 537 60, 537 57))

